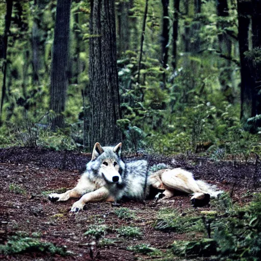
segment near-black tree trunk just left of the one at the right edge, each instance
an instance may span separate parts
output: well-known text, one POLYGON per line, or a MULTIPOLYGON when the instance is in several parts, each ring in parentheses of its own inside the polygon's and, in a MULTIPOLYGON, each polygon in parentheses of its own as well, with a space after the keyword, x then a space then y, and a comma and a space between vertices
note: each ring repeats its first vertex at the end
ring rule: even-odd
POLYGON ((251 2, 238 0, 239 20, 239 51, 241 63, 241 118, 247 119, 252 115, 253 108, 253 82, 251 70, 245 58, 245 52, 249 50, 249 26, 251 15, 251 2))

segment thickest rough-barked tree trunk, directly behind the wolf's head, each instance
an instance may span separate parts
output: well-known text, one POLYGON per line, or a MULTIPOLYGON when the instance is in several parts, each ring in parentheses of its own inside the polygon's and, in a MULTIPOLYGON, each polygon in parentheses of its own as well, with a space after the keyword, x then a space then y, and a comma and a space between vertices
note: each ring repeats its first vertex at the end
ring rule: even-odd
POLYGON ((121 140, 116 121, 120 98, 116 63, 114 0, 91 0, 89 98, 90 144, 115 144, 121 140))

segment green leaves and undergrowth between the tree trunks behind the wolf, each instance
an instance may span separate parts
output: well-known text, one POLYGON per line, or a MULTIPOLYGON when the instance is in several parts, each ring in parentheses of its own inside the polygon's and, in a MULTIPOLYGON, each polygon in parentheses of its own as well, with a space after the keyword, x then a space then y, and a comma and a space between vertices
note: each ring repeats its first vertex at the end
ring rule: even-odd
MULTIPOLYGON (((122 14, 124 1, 116 1, 122 14)), ((37 2, 38 3, 38 2, 37 2)), ((49 120, 49 72, 54 41, 56 4, 17 2, 13 9, 7 55, 7 95, 2 112, 0 147, 43 146, 51 149, 83 147, 83 97, 88 93, 90 3, 72 3, 70 22, 69 86, 64 111, 65 129, 53 133, 49 120), (35 34, 36 33, 36 34, 35 34), (39 79, 34 79, 32 36, 38 36, 39 79), (26 113, 25 113, 26 111, 26 113)), ((125 2, 124 2, 125 3, 125 2)), ((131 3, 126 1, 126 3, 131 3)), ((0 4, 0 32, 5 31, 6 3, 0 4)), ((239 55, 234 49, 238 36, 237 5, 228 2, 226 16, 217 15, 215 1, 201 2, 196 12, 192 2, 180 2, 176 69, 171 63, 173 36, 167 45, 167 68, 162 66, 162 2, 149 4, 144 35, 143 59, 138 77, 139 43, 145 1, 132 1, 128 16, 128 49, 118 54, 122 119, 117 121, 129 151, 153 153, 205 153, 215 161, 227 154, 241 155, 247 162, 259 153, 259 118, 240 123, 239 55), (227 41, 220 41, 227 39, 227 41), (227 60, 228 58, 228 60, 227 60), (231 59, 229 59, 231 58, 231 59), (249 135, 248 132, 254 134, 249 135)), ((168 19, 174 21, 173 6, 168 19)), ((117 19, 116 22, 119 21, 117 19)), ((120 31, 118 24, 117 33, 120 31)), ((121 35, 118 35, 118 40, 121 35)), ((119 41, 118 41, 119 42, 119 41)), ((123 43, 124 44, 124 43, 123 43)), ((260 48, 245 53, 249 65, 260 63, 260 48)), ((3 59, 0 65, 3 67, 3 59)), ((3 74, 0 75, 3 82, 3 74)), ((85 107, 89 107, 88 95, 85 107)), ((87 113, 88 121, 91 115, 87 113)), ((102 141, 100 141, 102 142, 102 141)))

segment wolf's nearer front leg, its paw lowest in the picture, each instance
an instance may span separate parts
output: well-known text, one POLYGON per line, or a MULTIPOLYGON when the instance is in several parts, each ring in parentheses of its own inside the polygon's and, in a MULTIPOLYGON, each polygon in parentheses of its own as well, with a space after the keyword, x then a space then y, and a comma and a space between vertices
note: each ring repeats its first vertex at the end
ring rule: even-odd
POLYGON ((87 202, 112 201, 109 190, 105 187, 99 188, 93 192, 83 195, 80 200, 76 201, 72 207, 71 212, 77 213, 84 208, 87 202))

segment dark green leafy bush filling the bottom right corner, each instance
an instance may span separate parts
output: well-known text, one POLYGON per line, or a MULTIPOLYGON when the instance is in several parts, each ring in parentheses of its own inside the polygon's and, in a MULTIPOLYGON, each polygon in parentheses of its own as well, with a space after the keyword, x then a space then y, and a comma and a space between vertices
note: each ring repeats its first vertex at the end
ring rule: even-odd
POLYGON ((220 260, 258 260, 261 255, 261 196, 247 207, 233 208, 214 225, 220 260))

